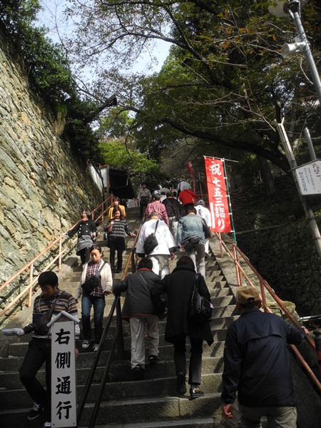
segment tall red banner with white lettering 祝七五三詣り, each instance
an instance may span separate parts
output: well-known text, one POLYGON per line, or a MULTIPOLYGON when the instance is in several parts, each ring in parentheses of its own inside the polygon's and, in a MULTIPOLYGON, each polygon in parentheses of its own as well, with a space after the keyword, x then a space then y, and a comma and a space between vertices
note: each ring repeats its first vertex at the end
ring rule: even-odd
POLYGON ((212 230, 213 232, 232 232, 223 160, 204 158, 212 230))

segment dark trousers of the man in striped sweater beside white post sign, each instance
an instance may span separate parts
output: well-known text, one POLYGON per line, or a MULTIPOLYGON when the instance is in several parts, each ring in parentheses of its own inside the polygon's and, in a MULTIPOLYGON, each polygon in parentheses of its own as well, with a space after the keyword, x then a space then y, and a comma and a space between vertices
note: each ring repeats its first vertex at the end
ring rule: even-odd
POLYGON ((30 397, 37 404, 46 406, 50 414, 51 404, 51 340, 31 339, 19 370, 20 380, 30 397), (46 362, 46 389, 36 378, 37 372, 46 362))

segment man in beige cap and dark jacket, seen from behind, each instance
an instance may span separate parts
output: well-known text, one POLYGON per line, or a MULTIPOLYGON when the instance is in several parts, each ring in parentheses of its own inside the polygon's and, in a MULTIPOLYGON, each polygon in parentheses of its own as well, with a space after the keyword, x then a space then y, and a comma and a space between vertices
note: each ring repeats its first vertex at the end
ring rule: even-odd
POLYGON ((231 404, 238 392, 243 428, 295 428, 292 372, 287 344, 298 345, 305 338, 304 327, 288 325, 275 314, 262 312, 258 291, 238 287, 238 320, 228 328, 224 350, 223 400, 225 417, 233 417, 231 404))

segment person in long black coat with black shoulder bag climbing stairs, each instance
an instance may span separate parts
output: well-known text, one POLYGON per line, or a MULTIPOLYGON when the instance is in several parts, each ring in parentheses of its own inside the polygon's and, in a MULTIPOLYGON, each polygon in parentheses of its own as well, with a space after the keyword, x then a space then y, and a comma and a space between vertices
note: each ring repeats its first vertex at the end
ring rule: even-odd
MULTIPOLYGON (((210 302, 210 292, 202 275, 198 275, 198 292, 210 302)), ((174 345, 174 363, 177 376, 176 389, 178 394, 185 394, 186 336, 190 338, 190 364, 188 383, 190 384, 190 399, 203 396, 200 390, 202 372, 203 340, 208 345, 213 343, 210 323, 200 324, 190 320, 190 302, 195 284, 195 267, 193 260, 183 255, 175 269, 163 280, 156 282, 151 289, 151 299, 158 313, 166 312, 165 340, 174 345), (166 303, 162 295, 167 295, 166 303)))

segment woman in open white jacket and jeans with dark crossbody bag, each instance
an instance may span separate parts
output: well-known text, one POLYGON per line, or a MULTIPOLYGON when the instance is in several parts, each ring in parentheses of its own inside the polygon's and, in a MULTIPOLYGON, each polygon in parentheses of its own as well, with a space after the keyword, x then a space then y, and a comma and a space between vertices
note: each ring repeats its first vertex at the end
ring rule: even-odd
POLYGON ((83 348, 91 345, 91 307, 93 307, 93 324, 95 327, 93 352, 97 352, 98 345, 103 334, 103 310, 105 308, 105 295, 111 293, 113 287, 113 277, 111 267, 104 262, 102 257, 103 251, 99 245, 91 247, 91 261, 83 265, 83 272, 76 291, 75 299, 81 297, 81 322, 83 326, 83 348), (101 269, 102 267, 102 269, 101 269), (81 285, 92 275, 96 275, 101 269, 98 285, 91 291, 85 292, 81 285))

